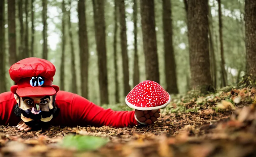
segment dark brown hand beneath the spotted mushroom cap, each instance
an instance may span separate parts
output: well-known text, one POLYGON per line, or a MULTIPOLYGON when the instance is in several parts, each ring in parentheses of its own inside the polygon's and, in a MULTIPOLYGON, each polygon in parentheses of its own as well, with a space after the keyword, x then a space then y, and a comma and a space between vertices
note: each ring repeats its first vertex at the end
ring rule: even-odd
POLYGON ((141 111, 135 109, 135 116, 138 121, 146 124, 153 124, 160 117, 160 109, 141 111))

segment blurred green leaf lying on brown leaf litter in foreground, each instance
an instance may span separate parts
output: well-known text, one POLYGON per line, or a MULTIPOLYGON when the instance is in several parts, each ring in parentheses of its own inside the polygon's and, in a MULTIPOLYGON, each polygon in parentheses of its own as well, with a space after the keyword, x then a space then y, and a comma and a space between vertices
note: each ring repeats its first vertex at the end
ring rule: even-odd
POLYGON ((62 140, 62 147, 78 151, 96 150, 109 142, 108 138, 97 136, 67 135, 62 140))

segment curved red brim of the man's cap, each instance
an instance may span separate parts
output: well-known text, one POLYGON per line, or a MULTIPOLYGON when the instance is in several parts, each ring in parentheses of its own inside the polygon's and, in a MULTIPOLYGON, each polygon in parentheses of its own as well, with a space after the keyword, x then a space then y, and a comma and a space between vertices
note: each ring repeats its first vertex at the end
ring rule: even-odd
POLYGON ((17 85, 11 87, 13 93, 18 94, 20 97, 40 97, 45 95, 54 95, 59 91, 59 87, 56 85, 51 86, 38 86, 38 87, 25 87, 18 88, 17 85))

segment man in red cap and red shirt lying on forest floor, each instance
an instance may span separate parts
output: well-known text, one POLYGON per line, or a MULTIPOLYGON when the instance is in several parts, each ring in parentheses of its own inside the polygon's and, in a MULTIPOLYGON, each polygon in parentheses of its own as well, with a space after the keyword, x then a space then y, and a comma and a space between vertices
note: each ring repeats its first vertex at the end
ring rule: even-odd
POLYGON ((146 126, 160 117, 159 108, 114 111, 103 109, 78 94, 59 90, 53 85, 55 67, 45 59, 22 59, 10 67, 9 74, 16 84, 11 86, 11 91, 0 94, 0 125, 16 126, 21 131, 50 125, 146 126))

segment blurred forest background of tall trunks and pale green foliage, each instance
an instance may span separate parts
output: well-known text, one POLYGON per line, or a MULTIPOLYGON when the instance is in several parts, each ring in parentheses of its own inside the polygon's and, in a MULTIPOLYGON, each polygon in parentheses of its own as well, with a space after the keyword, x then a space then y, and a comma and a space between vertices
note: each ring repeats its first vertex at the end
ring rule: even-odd
POLYGON ((255 6, 253 0, 2 0, 0 93, 14 84, 10 66, 32 56, 56 66, 61 90, 97 105, 124 103, 146 79, 170 94, 234 85, 256 67, 255 6))

